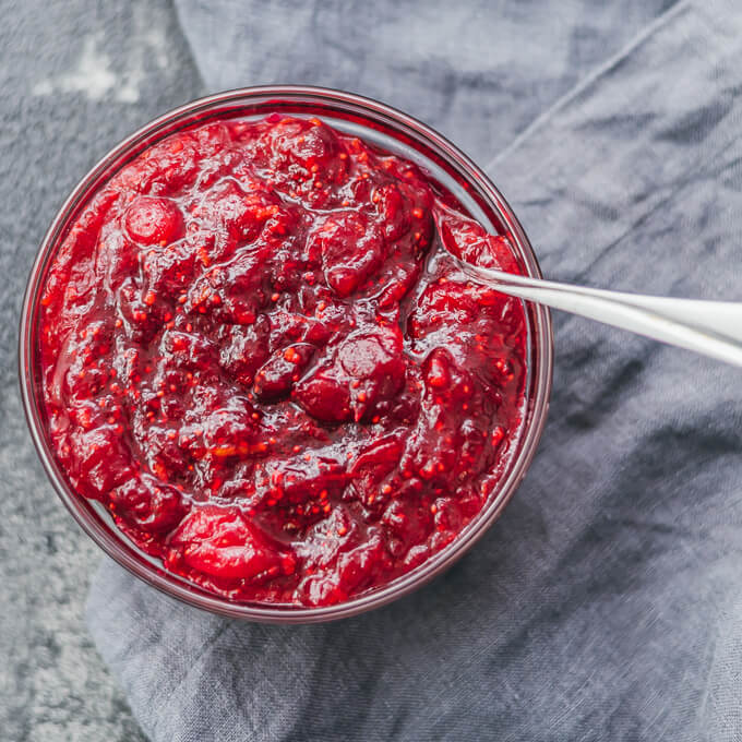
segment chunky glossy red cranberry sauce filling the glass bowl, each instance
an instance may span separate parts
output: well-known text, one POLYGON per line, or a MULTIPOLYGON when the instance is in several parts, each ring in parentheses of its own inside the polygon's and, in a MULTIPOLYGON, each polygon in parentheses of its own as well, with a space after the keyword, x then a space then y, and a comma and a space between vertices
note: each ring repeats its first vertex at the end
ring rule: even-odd
POLYGON ((415 165, 318 119, 173 134, 100 190, 40 300, 71 487, 235 601, 323 606, 447 544, 523 423, 517 272, 415 165))

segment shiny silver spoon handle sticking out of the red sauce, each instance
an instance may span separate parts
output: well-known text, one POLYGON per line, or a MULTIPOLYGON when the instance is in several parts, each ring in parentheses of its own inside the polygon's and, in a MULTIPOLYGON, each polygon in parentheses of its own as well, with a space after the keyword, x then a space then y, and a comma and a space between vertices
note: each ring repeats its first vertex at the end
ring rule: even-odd
POLYGON ((651 297, 516 276, 457 261, 479 282, 513 297, 742 367, 742 302, 651 297))

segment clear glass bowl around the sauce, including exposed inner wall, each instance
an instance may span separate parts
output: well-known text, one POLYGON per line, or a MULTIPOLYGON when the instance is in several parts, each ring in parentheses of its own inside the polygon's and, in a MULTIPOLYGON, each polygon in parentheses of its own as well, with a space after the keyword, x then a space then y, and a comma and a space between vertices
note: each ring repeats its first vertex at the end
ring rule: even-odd
POLYGON ((130 542, 116 528, 103 506, 85 500, 72 490, 51 451, 37 378, 35 343, 38 302, 46 272, 67 230, 92 195, 148 146, 176 131, 200 125, 214 118, 262 117, 274 111, 320 116, 339 130, 356 133, 417 163, 453 192, 486 228, 510 232, 525 271, 530 276, 541 276, 528 238, 498 189, 466 155, 420 121, 375 100, 333 89, 282 85, 229 91, 194 100, 146 124, 107 154, 70 194, 41 242, 28 278, 21 316, 20 379, 28 427, 51 483, 83 530, 109 556, 149 585, 214 613, 273 623, 311 623, 355 615, 388 603, 420 587, 451 566, 494 523, 523 479, 536 452, 549 406, 553 346, 549 310, 526 304, 526 409, 524 424, 518 439, 514 441, 514 451, 503 476, 490 495, 490 502, 450 544, 415 570, 386 585, 346 602, 320 608, 237 603, 166 572, 159 563, 130 542))

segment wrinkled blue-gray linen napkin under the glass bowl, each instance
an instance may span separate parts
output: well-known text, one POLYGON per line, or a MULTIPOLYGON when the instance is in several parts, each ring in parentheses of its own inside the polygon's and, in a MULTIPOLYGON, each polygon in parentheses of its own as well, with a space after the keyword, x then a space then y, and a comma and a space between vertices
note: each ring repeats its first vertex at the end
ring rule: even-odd
MULTIPOLYGON (((488 165, 548 275, 741 298, 742 13, 670 4, 179 12, 215 88, 337 85, 440 127, 488 165)), ((742 739, 740 372, 563 315, 555 346, 550 421, 515 499, 397 603, 238 623, 106 562, 89 625, 145 732, 742 739)))

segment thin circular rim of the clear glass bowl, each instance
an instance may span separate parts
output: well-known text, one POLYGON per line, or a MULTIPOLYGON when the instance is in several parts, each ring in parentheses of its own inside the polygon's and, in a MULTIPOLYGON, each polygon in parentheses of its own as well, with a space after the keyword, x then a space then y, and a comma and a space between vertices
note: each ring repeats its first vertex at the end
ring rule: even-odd
POLYGON ((176 122, 182 122, 185 125, 185 122, 193 121, 199 115, 207 113, 210 110, 230 105, 235 105, 236 108, 256 105, 256 101, 262 98, 267 98, 264 103, 266 108, 270 108, 272 100, 289 100, 300 105, 306 104, 308 107, 314 104, 332 106, 336 110, 347 109, 361 119, 366 116, 369 121, 379 122, 383 120, 384 125, 391 130, 396 130, 407 136, 411 134, 418 142, 431 147, 447 166, 453 167, 458 176, 463 177, 467 184, 474 189, 478 198, 483 199, 484 203, 496 213, 510 229, 528 274, 534 277, 541 277, 541 271, 530 242, 500 191, 467 155, 421 121, 371 98, 332 88, 306 85, 267 85, 225 91, 198 98, 170 110, 135 131, 105 155, 65 200, 41 240, 26 285, 19 339, 19 379, 26 421, 47 476, 79 525, 110 558, 151 586, 212 613, 265 623, 316 623, 347 618, 379 608, 421 587, 468 551, 499 518, 525 476, 546 424, 552 382, 553 334, 549 310, 540 306, 529 306, 529 316, 535 330, 531 344, 535 349, 532 355, 535 356, 536 368, 530 369, 531 392, 528 398, 528 419, 518 442, 518 450, 511 459, 507 476, 499 483, 498 491, 493 494, 491 502, 446 548, 402 577, 370 593, 334 606, 319 608, 272 607, 270 605, 230 602, 214 594, 201 590, 196 586, 181 582, 177 576, 139 558, 135 547, 124 542, 120 535, 115 535, 112 527, 95 515, 89 506, 85 506, 83 499, 68 486, 47 441, 39 412, 39 400, 36 395, 34 369, 32 368, 36 330, 35 319, 41 278, 50 255, 58 247, 60 232, 67 225, 72 212, 79 204, 84 203, 93 189, 97 188, 101 177, 112 166, 120 167, 121 158, 128 152, 133 151, 139 143, 176 122))

